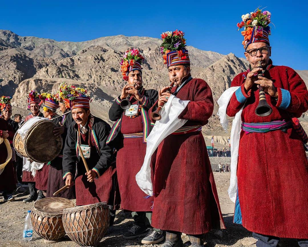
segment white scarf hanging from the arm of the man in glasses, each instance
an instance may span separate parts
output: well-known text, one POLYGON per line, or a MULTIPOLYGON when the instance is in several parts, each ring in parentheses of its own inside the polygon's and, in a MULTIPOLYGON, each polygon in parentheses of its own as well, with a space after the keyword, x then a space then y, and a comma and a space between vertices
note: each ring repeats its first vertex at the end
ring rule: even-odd
MULTIPOLYGON (((233 93, 239 88, 237 87, 230 87, 223 94, 221 94, 220 98, 217 100, 217 103, 219 105, 219 109, 217 112, 217 115, 219 115, 220 123, 222 125, 222 128, 227 130, 228 128, 228 119, 227 119, 227 106, 229 104, 229 101, 233 95, 233 93)), ((235 203, 236 196, 237 196, 237 161, 238 161, 238 149, 240 145, 240 134, 241 134, 241 114, 243 111, 244 106, 241 108, 240 111, 237 112, 235 115, 233 122, 232 122, 232 128, 231 128, 231 134, 230 134, 230 144, 231 144, 231 164, 230 164, 230 186, 228 189, 228 194, 235 203)))

